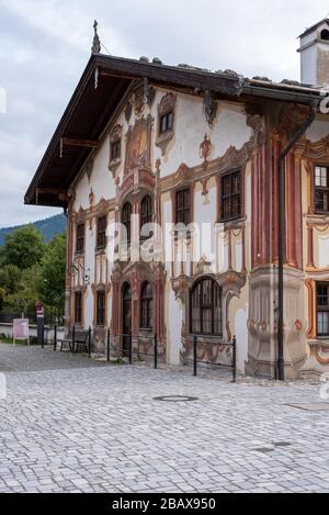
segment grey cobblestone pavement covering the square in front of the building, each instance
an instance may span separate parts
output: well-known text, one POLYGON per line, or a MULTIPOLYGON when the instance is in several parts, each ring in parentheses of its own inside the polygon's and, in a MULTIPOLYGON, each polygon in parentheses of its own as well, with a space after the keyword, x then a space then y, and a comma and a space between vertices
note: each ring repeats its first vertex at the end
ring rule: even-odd
POLYGON ((318 385, 41 352, 0 346, 0 492, 329 492, 329 412, 287 406, 318 385))

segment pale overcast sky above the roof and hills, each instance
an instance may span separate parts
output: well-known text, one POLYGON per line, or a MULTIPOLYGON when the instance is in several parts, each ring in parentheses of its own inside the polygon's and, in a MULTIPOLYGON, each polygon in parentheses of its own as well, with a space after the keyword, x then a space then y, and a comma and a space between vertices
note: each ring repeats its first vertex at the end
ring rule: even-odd
POLYGON ((94 19, 116 56, 282 80, 299 79, 296 37, 328 11, 325 0, 0 0, 0 227, 59 212, 23 199, 90 57, 94 19))

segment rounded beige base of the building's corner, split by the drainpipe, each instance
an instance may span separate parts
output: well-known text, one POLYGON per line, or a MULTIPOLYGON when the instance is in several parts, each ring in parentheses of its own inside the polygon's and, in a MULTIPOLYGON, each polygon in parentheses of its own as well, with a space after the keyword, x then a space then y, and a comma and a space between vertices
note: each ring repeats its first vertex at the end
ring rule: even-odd
MULTIPOLYGON (((277 269, 260 267, 249 281, 249 348, 246 372, 275 379, 277 373, 277 269)), ((307 321, 304 313, 304 273, 294 268, 284 269, 284 374, 297 379, 307 360, 307 321)))

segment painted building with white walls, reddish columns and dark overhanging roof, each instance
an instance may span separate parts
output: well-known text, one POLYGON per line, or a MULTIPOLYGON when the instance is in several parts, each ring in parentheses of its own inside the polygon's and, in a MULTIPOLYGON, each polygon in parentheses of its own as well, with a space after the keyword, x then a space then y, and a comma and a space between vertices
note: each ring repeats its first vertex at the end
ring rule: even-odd
POLYGON ((277 377, 283 209, 285 377, 329 371, 329 116, 315 86, 94 53, 25 198, 67 211, 67 331, 91 326, 99 352, 109 328, 146 351, 156 334, 173 365, 194 334, 212 362, 236 335, 239 370, 277 377), (280 156, 314 105, 282 199, 280 156))

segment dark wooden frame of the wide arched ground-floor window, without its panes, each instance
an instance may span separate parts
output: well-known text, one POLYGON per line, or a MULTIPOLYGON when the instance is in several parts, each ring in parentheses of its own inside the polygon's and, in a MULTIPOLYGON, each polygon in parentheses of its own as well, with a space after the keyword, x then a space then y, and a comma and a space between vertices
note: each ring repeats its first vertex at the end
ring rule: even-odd
POLYGON ((190 292, 190 332, 191 334, 194 334, 194 335, 200 335, 200 336, 211 336, 211 335, 214 335, 214 336, 217 336, 217 337, 223 337, 223 289, 218 286, 218 283, 215 281, 215 279, 206 276, 206 277, 203 277, 202 279, 197 280, 194 284, 193 284, 193 288, 190 292), (203 283, 205 283, 206 281, 211 281, 211 284, 212 284, 212 292, 211 292, 211 303, 209 304, 205 304, 202 302, 202 296, 203 296, 203 283), (196 293, 197 291, 197 288, 200 287, 201 284, 201 294, 200 294, 200 305, 196 306, 198 310, 200 310, 200 313, 198 313, 198 321, 200 321, 200 331, 194 331, 194 325, 193 323, 195 323, 195 320, 193 317, 193 295, 196 293), (220 331, 217 333, 215 332, 215 293, 218 292, 219 294, 219 299, 218 299, 218 302, 219 302, 219 322, 220 322, 220 331), (204 325, 204 320, 203 320, 203 312, 205 310, 212 310, 212 317, 211 317, 211 325, 212 325, 212 332, 211 333, 205 333, 203 329, 203 325, 204 325))

